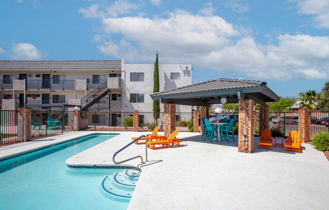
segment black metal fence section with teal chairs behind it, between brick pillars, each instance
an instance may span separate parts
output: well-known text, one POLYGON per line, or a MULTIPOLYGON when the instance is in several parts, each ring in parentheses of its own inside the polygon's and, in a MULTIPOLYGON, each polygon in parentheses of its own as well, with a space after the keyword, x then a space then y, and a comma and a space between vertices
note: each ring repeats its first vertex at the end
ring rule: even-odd
POLYGON ((72 131, 73 111, 31 111, 32 138, 72 131))

